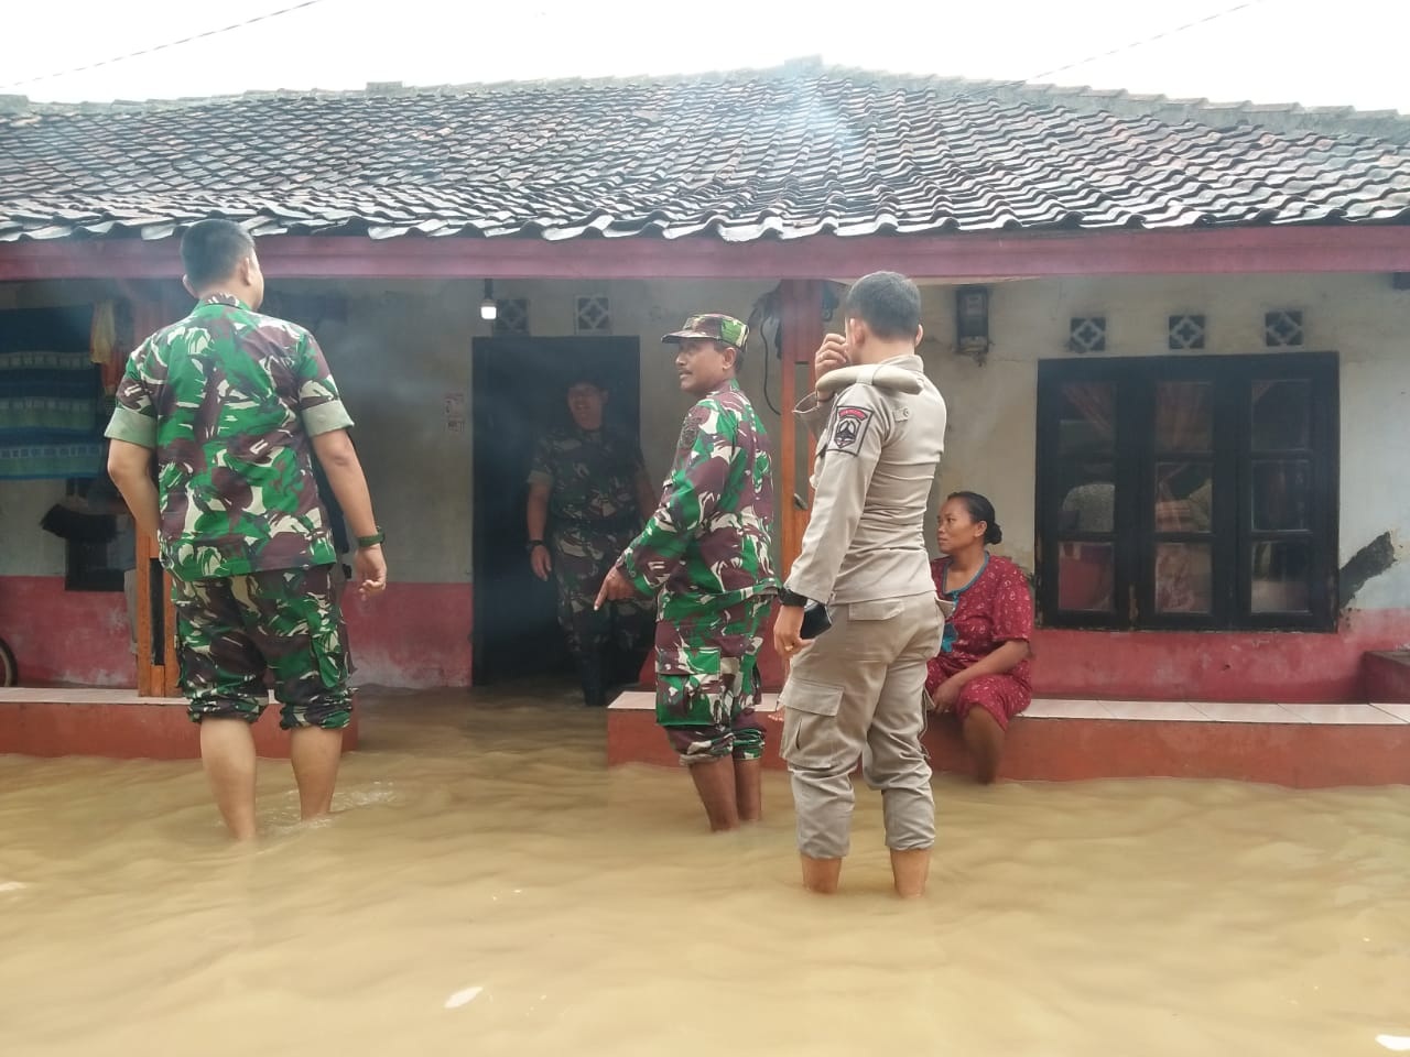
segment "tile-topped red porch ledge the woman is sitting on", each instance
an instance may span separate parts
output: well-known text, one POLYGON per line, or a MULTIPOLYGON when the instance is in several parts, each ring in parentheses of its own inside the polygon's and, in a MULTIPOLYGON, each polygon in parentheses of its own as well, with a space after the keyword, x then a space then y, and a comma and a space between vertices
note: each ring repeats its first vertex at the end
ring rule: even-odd
MULTIPOLYGON (((764 712, 777 710, 766 695, 764 712)), ((767 722, 766 767, 783 724, 767 722)), ((938 772, 971 774, 953 719, 924 743, 938 772)), ((608 709, 608 764, 677 767, 650 692, 608 709)), ((1003 778, 1222 778, 1293 788, 1410 785, 1410 706, 1035 700, 1010 726, 1003 778)))

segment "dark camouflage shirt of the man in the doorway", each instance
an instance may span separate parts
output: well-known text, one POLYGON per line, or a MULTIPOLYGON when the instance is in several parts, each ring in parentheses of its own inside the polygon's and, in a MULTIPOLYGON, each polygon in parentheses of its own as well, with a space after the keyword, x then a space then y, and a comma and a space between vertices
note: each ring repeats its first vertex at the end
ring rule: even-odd
POLYGON ((642 523, 636 479, 642 452, 611 430, 554 430, 539 441, 530 485, 548 485, 548 517, 557 527, 634 530, 642 523))

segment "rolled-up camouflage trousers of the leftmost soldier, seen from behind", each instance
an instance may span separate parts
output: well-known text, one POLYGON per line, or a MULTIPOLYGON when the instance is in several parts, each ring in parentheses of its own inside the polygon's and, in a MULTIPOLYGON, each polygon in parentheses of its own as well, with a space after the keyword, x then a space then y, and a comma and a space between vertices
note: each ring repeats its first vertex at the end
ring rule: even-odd
POLYGON ((338 730, 352 717, 341 569, 269 569, 244 576, 172 576, 176 657, 192 722, 254 723, 274 675, 279 726, 338 730))

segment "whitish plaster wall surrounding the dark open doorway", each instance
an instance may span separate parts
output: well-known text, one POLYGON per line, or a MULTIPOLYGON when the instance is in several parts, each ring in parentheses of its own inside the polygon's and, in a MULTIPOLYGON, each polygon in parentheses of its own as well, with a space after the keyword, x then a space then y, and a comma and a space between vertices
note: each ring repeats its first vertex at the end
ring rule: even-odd
MULTIPOLYGON (((341 289, 343 324, 319 327, 343 397, 378 519, 388 530, 392 574, 400 582, 465 582, 471 578, 471 431, 446 427, 446 393, 470 397, 471 350, 488 337, 479 319, 481 282, 290 283, 290 292, 341 289)), ((675 381, 661 334, 698 311, 747 317, 768 286, 749 283, 496 282, 498 297, 527 297, 532 337, 574 333, 575 297, 606 295, 612 333, 642 341, 642 445, 654 479, 666 475, 681 417, 689 407, 675 381)), ((744 365, 749 389, 771 435, 778 417, 763 393, 764 357, 744 365)), ((778 402, 778 365, 770 390, 778 402)))

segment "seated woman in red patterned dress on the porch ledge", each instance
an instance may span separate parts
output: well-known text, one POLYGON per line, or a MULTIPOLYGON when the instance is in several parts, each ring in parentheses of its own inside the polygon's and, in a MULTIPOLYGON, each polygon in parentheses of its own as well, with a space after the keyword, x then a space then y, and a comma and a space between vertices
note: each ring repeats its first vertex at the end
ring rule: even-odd
POLYGON ((953 612, 925 691, 936 712, 959 717, 964 747, 986 785, 998 774, 1008 720, 1034 699, 1028 682, 1034 596, 1014 562, 986 550, 1003 538, 994 505, 974 492, 956 492, 940 507, 945 557, 931 562, 935 589, 953 612))

